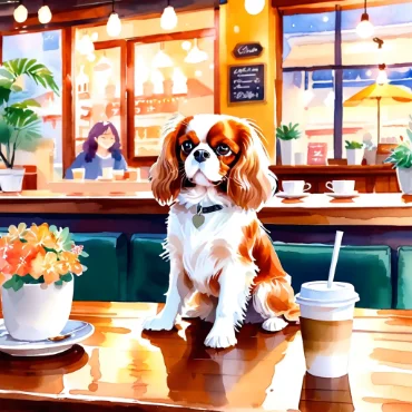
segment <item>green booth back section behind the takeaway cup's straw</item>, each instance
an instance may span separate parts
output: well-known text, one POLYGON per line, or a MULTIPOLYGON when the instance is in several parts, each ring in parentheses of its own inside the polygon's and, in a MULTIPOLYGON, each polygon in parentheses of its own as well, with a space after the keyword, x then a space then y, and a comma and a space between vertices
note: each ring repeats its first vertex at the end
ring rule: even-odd
MULTIPOLYGON (((326 281, 333 246, 274 243, 284 269, 292 276, 295 293, 311 281, 326 281)), ((356 307, 391 308, 391 248, 389 246, 342 246, 335 281, 351 283, 360 295, 356 307)))

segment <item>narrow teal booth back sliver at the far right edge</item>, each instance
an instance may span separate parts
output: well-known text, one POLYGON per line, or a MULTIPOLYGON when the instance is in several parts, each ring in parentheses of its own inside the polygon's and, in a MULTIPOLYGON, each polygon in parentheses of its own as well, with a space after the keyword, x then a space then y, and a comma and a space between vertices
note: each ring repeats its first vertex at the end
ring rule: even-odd
POLYGON ((412 308, 412 246, 398 248, 398 296, 395 308, 412 308))

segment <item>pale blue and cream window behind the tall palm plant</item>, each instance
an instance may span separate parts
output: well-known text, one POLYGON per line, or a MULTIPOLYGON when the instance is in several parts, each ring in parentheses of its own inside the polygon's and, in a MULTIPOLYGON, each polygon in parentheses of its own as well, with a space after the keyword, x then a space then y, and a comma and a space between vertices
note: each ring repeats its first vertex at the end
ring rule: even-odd
POLYGON ((61 85, 62 56, 61 30, 31 32, 4 36, 2 38, 2 59, 36 59, 45 65, 55 77, 60 96, 45 89, 41 81, 30 76, 21 76, 17 86, 21 91, 14 92, 16 101, 36 100, 38 107, 32 109, 40 117, 40 138, 24 139, 24 144, 16 153, 16 165, 36 165, 38 173, 55 178, 62 177, 62 130, 61 130, 61 85))

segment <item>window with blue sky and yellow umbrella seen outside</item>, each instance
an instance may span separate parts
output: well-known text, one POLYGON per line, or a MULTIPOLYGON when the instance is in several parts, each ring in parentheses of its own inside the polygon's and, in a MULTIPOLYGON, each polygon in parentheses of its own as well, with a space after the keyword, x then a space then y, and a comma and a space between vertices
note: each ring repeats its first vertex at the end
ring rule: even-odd
POLYGON ((389 85, 412 92, 411 7, 371 7, 367 12, 375 27, 373 38, 383 40, 381 48, 356 33, 361 9, 284 17, 282 121, 301 125, 302 146, 326 143, 328 158, 346 156, 345 140, 373 145, 398 141, 412 114, 410 102, 382 104, 379 133, 375 101, 347 102, 376 82, 382 63, 386 65, 389 85), (341 23, 340 32, 335 21, 341 23), (340 95, 341 102, 335 100, 340 95), (334 147, 336 122, 342 126, 339 147, 334 147))

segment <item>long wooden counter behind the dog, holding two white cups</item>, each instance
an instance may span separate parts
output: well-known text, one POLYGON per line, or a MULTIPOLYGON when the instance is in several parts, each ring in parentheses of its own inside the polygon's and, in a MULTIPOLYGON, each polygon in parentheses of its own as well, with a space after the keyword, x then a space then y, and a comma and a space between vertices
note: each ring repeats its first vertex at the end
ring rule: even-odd
MULTIPOLYGON (((166 215, 151 193, 129 196, 66 196, 49 192, 0 194, 0 214, 60 215, 166 215)), ((412 196, 361 194, 352 200, 311 195, 302 200, 274 197, 261 210, 265 224, 276 225, 383 225, 412 226, 412 196)))

